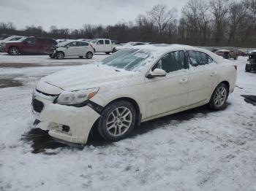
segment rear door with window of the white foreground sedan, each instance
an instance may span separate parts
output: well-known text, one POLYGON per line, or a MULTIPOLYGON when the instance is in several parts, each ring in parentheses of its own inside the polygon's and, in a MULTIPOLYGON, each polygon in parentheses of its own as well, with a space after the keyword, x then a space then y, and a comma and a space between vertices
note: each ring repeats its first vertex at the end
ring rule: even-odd
POLYGON ((189 99, 188 105, 197 105, 211 98, 217 81, 217 63, 204 52, 188 51, 189 99))

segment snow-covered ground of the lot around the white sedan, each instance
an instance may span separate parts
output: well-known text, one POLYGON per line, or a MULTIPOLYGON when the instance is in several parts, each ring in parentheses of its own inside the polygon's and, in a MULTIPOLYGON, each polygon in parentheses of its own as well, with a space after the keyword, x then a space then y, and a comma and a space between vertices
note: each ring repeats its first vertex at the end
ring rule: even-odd
MULTIPOLYGON (((42 56, 5 57, 0 63, 48 63, 42 56)), ((237 87, 221 112, 203 106, 143 123, 113 144, 37 154, 32 141, 21 140, 33 127, 32 88, 39 77, 71 66, 4 65, 0 83, 21 83, 0 89, 0 190, 256 190, 256 107, 241 97, 256 95, 256 73, 244 72, 246 58, 233 62, 237 87)))

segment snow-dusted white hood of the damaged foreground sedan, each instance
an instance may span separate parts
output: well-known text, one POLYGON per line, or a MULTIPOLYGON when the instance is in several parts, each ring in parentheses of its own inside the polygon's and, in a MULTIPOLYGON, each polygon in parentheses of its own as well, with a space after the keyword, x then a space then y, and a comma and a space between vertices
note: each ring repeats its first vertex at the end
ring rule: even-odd
MULTIPOLYGON (((113 85, 116 82, 121 82, 121 85, 124 85, 127 83, 123 82, 127 79, 129 81, 134 73, 132 71, 116 71, 113 67, 101 64, 88 64, 59 71, 42 78, 41 81, 59 87, 62 90, 72 91, 113 85)), ((40 87, 38 88, 40 89, 40 87)), ((42 91, 44 92, 44 90, 42 91)), ((50 92, 47 90, 47 93, 50 92)))

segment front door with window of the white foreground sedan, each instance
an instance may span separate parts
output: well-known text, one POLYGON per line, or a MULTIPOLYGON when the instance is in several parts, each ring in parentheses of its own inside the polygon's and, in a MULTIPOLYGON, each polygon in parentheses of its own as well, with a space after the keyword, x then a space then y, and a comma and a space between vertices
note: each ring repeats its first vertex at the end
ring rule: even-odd
POLYGON ((146 78, 146 118, 154 118, 187 106, 189 70, 184 51, 169 52, 151 69, 163 69, 165 77, 146 78))

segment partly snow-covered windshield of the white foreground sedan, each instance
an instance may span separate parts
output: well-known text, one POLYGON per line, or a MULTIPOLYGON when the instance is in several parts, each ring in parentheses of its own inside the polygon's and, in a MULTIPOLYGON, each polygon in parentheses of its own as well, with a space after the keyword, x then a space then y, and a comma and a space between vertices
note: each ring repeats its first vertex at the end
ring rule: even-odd
POLYGON ((119 50, 102 61, 102 64, 113 66, 117 69, 125 69, 128 71, 138 70, 145 65, 146 59, 151 55, 150 50, 129 49, 119 50))

